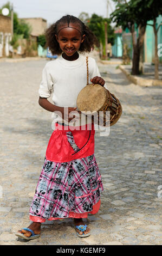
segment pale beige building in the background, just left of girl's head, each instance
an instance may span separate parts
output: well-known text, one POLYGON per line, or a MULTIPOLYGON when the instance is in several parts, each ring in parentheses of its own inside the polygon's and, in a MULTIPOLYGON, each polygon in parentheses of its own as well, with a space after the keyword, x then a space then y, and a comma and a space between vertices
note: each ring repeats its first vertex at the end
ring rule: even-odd
POLYGON ((38 36, 44 34, 44 31, 47 28, 47 20, 43 18, 23 18, 20 20, 24 20, 31 26, 31 35, 38 36))

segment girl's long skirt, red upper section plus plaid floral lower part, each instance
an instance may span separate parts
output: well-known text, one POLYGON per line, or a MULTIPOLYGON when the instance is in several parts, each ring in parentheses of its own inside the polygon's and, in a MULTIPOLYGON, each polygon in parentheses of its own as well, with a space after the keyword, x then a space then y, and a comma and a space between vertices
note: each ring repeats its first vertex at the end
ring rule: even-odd
POLYGON ((56 124, 49 139, 30 206, 31 221, 87 218, 100 208, 103 186, 94 156, 94 126, 74 131, 65 127, 56 124))

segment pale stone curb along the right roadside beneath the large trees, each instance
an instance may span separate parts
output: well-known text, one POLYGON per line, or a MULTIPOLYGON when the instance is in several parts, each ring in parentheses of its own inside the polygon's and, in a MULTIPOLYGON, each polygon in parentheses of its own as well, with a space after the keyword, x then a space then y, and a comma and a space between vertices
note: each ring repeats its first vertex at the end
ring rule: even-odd
POLYGON ((162 80, 145 79, 138 76, 133 76, 122 65, 119 65, 119 69, 132 83, 138 84, 138 86, 162 86, 162 80))

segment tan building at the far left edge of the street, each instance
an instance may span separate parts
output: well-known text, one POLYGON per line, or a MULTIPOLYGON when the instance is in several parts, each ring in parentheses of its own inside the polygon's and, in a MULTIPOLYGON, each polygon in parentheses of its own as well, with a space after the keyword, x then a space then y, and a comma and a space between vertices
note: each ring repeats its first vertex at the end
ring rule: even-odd
POLYGON ((11 17, 0 14, 0 57, 9 56, 11 39, 11 17))

